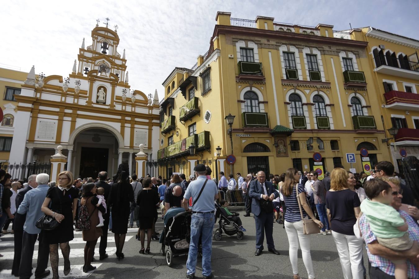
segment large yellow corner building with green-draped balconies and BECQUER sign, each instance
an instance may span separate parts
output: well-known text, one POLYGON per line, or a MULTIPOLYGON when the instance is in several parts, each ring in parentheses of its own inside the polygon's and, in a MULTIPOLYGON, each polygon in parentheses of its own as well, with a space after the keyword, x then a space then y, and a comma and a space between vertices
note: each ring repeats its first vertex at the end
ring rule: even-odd
POLYGON ((189 175, 197 160, 216 164, 213 177, 218 171, 281 174, 292 166, 310 171, 320 164, 313 156, 323 171, 343 165, 360 172, 362 148, 370 165, 390 159, 362 30, 221 12, 216 20, 209 51, 163 82, 154 163, 161 175, 189 175), (229 166, 230 154, 235 163, 229 166))

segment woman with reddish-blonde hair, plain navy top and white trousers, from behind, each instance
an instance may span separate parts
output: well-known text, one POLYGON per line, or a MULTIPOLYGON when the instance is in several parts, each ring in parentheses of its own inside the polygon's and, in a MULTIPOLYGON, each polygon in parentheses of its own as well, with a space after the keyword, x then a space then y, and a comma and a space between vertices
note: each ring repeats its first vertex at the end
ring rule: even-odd
POLYGON ((330 174, 330 190, 326 194, 327 217, 339 253, 344 279, 362 279, 362 239, 354 234, 360 214, 360 198, 348 189, 348 172, 341 168, 330 174))

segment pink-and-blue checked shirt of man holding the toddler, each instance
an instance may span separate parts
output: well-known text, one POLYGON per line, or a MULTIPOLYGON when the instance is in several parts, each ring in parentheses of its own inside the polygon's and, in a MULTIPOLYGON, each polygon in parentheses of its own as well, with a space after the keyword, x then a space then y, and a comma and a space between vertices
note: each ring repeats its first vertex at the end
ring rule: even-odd
MULTIPOLYGON (((416 225, 413 218, 409 216, 406 212, 403 210, 398 210, 401 216, 403 216, 406 219, 406 223, 409 225, 409 237, 413 241, 419 241, 419 228, 416 225)), ((376 241, 377 237, 372 233, 372 230, 370 228, 370 224, 368 223, 367 216, 365 214, 362 214, 359 220, 360 223, 360 229, 362 233, 362 237, 365 240, 365 243, 367 243, 367 254, 368 259, 371 262, 371 266, 378 267, 382 271, 384 271, 386 274, 394 276, 394 270, 395 266, 394 264, 389 260, 381 256, 375 256, 370 253, 368 250, 368 244, 376 241)), ((407 263, 407 277, 408 278, 419 278, 419 272, 416 270, 415 266, 411 263, 411 261, 406 260, 407 263)))

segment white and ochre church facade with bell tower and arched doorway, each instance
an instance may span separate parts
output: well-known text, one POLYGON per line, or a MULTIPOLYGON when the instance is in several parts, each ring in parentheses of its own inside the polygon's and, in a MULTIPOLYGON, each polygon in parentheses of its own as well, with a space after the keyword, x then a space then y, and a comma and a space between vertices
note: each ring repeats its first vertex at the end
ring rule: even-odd
POLYGON ((79 49, 72 73, 35 78, 32 67, 18 101, 10 164, 49 162, 58 145, 75 177, 116 173, 127 163, 134 173, 135 154, 144 144, 148 159, 159 148, 157 90, 147 97, 131 90, 125 50, 107 27, 93 29, 92 44, 79 49))

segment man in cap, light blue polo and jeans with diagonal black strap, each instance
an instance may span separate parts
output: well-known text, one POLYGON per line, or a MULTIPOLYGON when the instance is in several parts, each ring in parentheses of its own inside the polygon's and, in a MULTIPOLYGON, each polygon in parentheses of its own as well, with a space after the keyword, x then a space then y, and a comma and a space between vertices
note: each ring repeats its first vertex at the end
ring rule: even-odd
POLYGON ((195 278, 199 236, 202 236, 202 275, 205 279, 209 279, 213 277, 211 273, 212 229, 215 223, 214 200, 218 199, 218 189, 214 181, 207 179, 207 169, 204 164, 197 164, 194 171, 197 179, 191 181, 183 199, 185 210, 192 212, 186 278, 195 278), (190 209, 188 204, 191 197, 192 208, 190 209))

